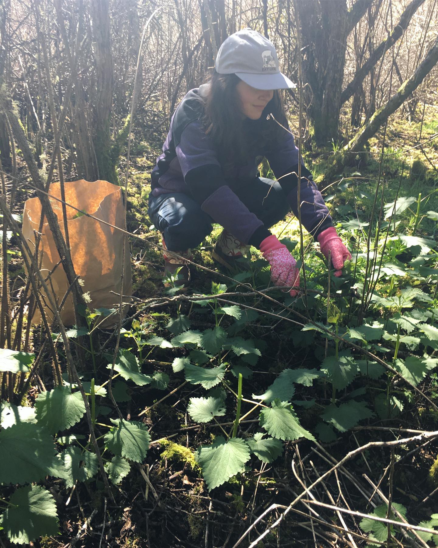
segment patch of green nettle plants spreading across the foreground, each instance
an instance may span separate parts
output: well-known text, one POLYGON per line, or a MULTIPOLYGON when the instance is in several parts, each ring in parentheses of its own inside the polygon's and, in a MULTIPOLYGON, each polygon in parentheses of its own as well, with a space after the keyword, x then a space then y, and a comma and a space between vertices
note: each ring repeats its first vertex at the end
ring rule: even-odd
MULTIPOLYGON (((413 215, 410 226, 418 227, 422 218, 418 219, 413 215)), ((356 241, 365 225, 358 219, 343 222, 344 236, 350 233, 356 241)), ((273 383, 263 387, 262 393, 246 395, 245 384, 249 384, 253 368, 263 363, 261 368, 268 370, 273 365, 272 360, 268 362, 271 349, 263 340, 253 338, 253 330, 248 329, 257 326, 262 317, 265 323, 269 315, 247 309, 244 303, 249 298, 245 296, 239 304, 221 302, 227 286, 212 282, 210 294, 194 300, 187 315, 178 305, 176 317, 165 319, 168 335, 163 330, 160 335, 165 336, 155 335, 156 323, 137 320, 129 330, 122 330, 131 346, 119 349, 114 366, 113 356, 105 356, 106 367, 113 372, 114 399, 128 401, 129 386, 166 390, 170 375, 162 371, 146 374, 143 367, 146 369, 149 356, 159 360, 163 352, 172 353, 169 373, 200 390, 199 396, 187 402, 188 415, 194 423, 210 423, 217 429, 218 435, 212 436, 211 443, 193 449, 209 490, 240 473, 249 474, 251 462, 255 466, 257 460, 273 463, 283 453, 284 442, 298 438, 330 442, 376 414, 381 419, 396 417, 413 399, 408 387, 418 386, 438 363, 433 357, 438 349, 438 271, 435 242, 396 233, 398 225, 392 218, 387 226, 391 236, 389 230, 373 236, 375 252, 359 250, 345 276, 332 277, 330 300, 323 293, 325 267, 312 253, 306 260, 309 293, 306 298, 284 300, 286 307, 292 305, 312 318, 301 330, 294 327, 294 331, 287 327, 288 311, 280 312, 285 318, 281 323, 284 335, 297 348, 312 347, 307 364, 313 367, 292 365, 279 371, 276 364, 273 383), (214 319, 213 327, 192 329, 193 317, 206 316, 214 319), (396 373, 370 359, 370 352, 381 356, 381 361, 396 373), (409 384, 396 382, 400 376, 409 384), (297 390, 299 399, 295 398, 297 390), (298 414, 302 420, 310 415, 306 427, 298 414), (221 423, 225 416, 232 420, 221 423), (250 434, 245 431, 245 420, 256 417, 258 431, 250 434)), ((293 247, 291 242, 289 245, 293 247)), ((258 259, 251 265, 253 270, 240 273, 236 281, 250 280, 253 287, 266 287, 266 261, 258 259)), ((177 292, 178 288, 170 290, 170 294, 177 292)), ((85 311, 88 329, 79 332, 73 328, 67 334, 73 341, 79 335, 90 338, 90 349, 85 350, 91 353, 93 373, 82 385, 106 473, 112 483, 119 484, 133 463, 141 464, 147 458, 151 435, 141 421, 106 419, 113 413, 105 403, 109 380, 106 375, 107 380, 100 383, 97 377, 92 335, 109 313, 103 309, 85 311)), ((54 340, 62 355, 59 337, 54 335, 54 340)), ((0 351, 0 372, 29 372, 33 362, 31 353, 0 351)), ((83 398, 68 376, 53 390, 40 393, 33 408, 1 402, 0 527, 11 542, 29 543, 39 536, 56 534, 55 500, 46 487, 38 485, 47 476, 61 478, 66 489, 96 477, 98 457, 79 424, 84 414, 83 398)), ((384 509, 376 509, 376 515, 378 512, 384 509)), ((375 523, 364 521, 361 527, 374 532, 378 540, 385 540, 383 529, 379 533, 375 523)))

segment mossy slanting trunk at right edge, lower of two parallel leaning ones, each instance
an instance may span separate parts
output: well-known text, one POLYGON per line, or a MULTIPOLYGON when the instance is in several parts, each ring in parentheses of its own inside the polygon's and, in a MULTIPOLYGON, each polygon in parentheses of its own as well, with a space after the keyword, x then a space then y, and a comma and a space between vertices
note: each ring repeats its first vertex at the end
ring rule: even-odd
POLYGON ((360 132, 349 142, 345 150, 349 152, 357 152, 365 142, 377 132, 377 130, 385 123, 388 117, 395 112, 402 102, 416 89, 429 74, 432 68, 438 62, 438 38, 435 39, 434 45, 430 48, 429 53, 423 60, 422 64, 417 68, 413 75, 408 78, 397 90, 397 93, 391 97, 386 105, 377 110, 371 117, 370 121, 360 130, 360 132))

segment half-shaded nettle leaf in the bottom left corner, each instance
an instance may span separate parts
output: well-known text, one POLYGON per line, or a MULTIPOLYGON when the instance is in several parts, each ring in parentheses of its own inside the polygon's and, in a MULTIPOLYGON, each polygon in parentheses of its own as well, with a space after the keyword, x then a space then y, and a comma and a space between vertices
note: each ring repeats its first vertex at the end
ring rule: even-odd
POLYGON ((55 499, 46 489, 38 485, 20 487, 9 503, 0 517, 0 529, 11 543, 29 544, 40 536, 57 534, 55 499))

